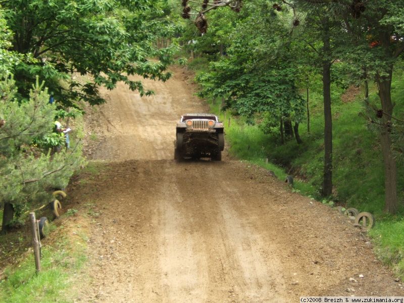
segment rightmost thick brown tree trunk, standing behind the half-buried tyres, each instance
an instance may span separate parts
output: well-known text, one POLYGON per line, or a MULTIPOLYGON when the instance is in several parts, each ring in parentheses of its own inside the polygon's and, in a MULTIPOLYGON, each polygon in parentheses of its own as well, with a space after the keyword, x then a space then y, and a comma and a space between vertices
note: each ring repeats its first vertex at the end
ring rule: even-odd
POLYGON ((391 115, 393 114, 393 104, 391 102, 391 76, 393 67, 390 66, 387 76, 377 75, 376 81, 379 86, 379 97, 382 106, 383 115, 382 121, 384 127, 380 133, 381 149, 384 160, 384 187, 385 199, 384 210, 390 214, 395 214, 397 211, 397 168, 395 159, 391 153, 391 137, 390 124, 391 115))

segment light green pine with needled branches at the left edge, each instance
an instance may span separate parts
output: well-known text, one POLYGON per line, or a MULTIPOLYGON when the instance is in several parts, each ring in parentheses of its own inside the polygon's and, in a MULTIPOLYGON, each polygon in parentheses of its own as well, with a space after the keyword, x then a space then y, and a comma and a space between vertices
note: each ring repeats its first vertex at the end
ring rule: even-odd
MULTIPOLYGON (((29 100, 16 99, 15 81, 0 82, 0 201, 3 203, 2 232, 6 232, 14 216, 19 217, 35 201, 49 200, 52 188, 64 188, 74 171, 83 164, 81 146, 51 153, 43 142, 52 136, 57 114, 48 104, 49 95, 38 81, 29 100)), ((63 138, 63 137, 62 137, 63 138)))

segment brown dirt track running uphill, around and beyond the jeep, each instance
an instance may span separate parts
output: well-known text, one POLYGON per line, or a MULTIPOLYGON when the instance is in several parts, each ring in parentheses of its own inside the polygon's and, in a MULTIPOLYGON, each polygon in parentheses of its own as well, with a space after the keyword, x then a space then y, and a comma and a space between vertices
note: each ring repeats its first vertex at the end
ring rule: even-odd
POLYGON ((369 239, 337 211, 231 159, 173 159, 175 123, 205 112, 187 74, 119 85, 89 115, 103 169, 71 193, 97 213, 81 302, 297 302, 301 295, 404 295, 369 239), (360 278, 359 275, 364 278, 360 278), (349 281, 355 278, 357 282, 349 281))

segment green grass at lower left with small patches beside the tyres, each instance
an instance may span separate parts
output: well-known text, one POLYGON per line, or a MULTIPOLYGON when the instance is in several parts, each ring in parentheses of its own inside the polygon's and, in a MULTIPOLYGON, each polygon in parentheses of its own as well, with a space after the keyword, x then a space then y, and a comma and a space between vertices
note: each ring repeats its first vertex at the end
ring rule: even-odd
MULTIPOLYGON (((104 171, 101 166, 90 162, 82 174, 92 178, 104 171)), ((87 208, 89 206, 84 205, 84 212, 87 208)), ((70 209, 60 220, 69 220, 70 216, 77 216, 77 212, 70 209)), ((82 219, 89 220, 86 218, 85 214, 82 219)), ((77 225, 72 236, 71 232, 64 231, 66 227, 49 224, 48 237, 42 240, 41 271, 38 274, 35 274, 32 245, 28 243, 30 230, 21 228, 0 236, 0 248, 7 246, 7 250, 0 249, 0 252, 8 254, 2 256, 6 258, 3 262, 8 256, 13 257, 13 264, 5 268, 4 273, 0 271, 0 303, 73 301, 75 285, 80 283, 75 280, 76 273, 87 260, 88 234, 85 228, 77 225)))

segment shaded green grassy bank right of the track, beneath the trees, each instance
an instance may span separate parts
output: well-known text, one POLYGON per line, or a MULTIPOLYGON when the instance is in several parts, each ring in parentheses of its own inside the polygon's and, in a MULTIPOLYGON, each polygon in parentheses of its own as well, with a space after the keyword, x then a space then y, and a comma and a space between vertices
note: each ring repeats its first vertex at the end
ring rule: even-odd
MULTIPOLYGON (((190 65, 196 73, 201 60, 190 65)), ((206 67, 205 67, 206 68, 206 67)), ((404 110, 404 68, 397 67, 392 83, 392 98, 396 104, 395 116, 402 117, 404 110)), ((359 211, 371 212, 376 217, 376 225, 371 230, 375 254, 394 268, 404 279, 404 167, 397 163, 397 192, 400 209, 391 216, 384 209, 384 167, 380 142, 376 133, 368 130, 365 120, 359 115, 363 111, 363 95, 342 102, 342 90, 333 87, 333 196, 329 197, 337 205, 354 207, 359 211)), ((311 90, 310 132, 307 123, 300 124, 303 144, 289 140, 281 144, 279 138, 264 134, 259 127, 245 124, 242 119, 230 118, 220 113, 218 103, 211 100, 212 111, 225 122, 226 140, 230 142, 230 153, 243 160, 265 167, 275 172, 279 179, 287 174, 295 178, 294 190, 307 196, 323 200, 320 192, 324 161, 324 121, 321 83, 311 90), (269 164, 266 164, 269 159, 269 164)), ((371 103, 380 107, 375 92, 371 103)))

